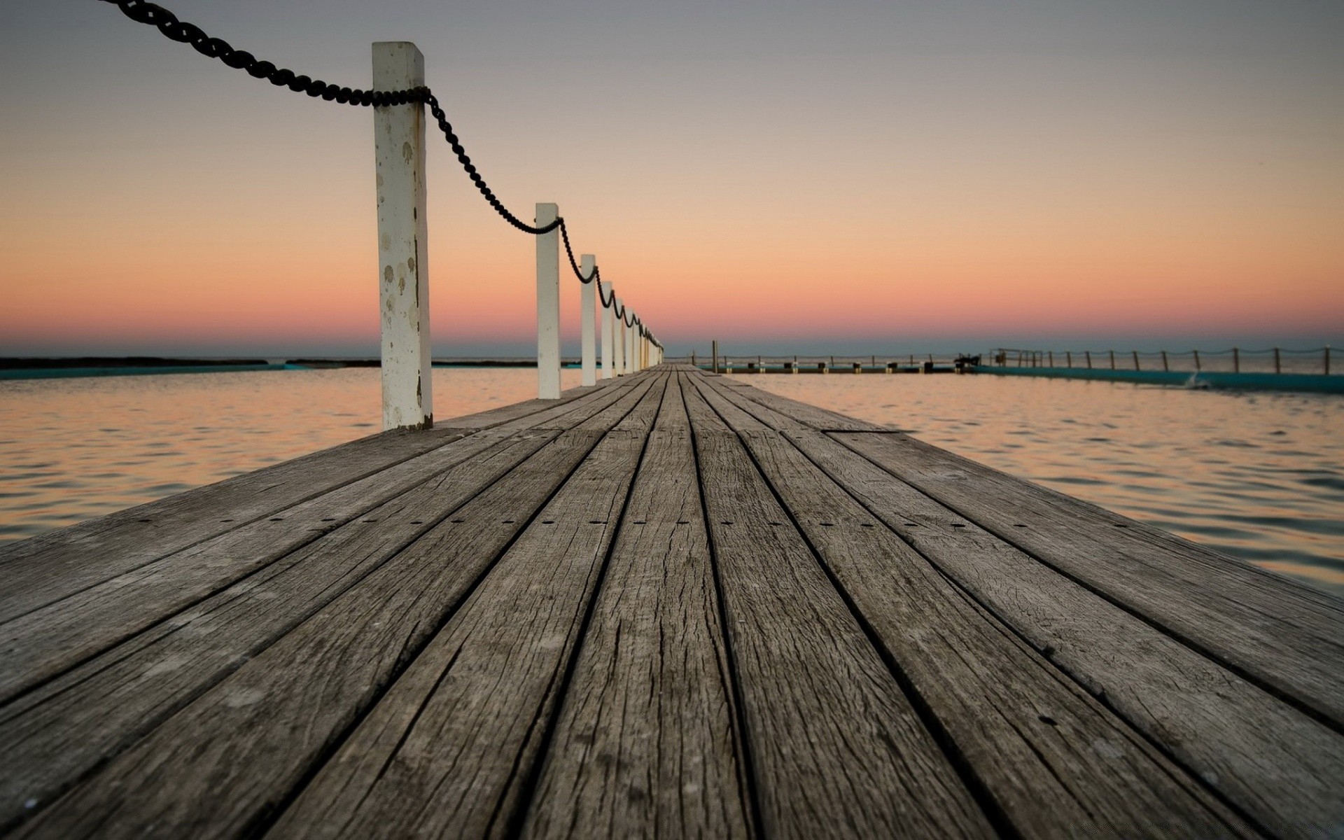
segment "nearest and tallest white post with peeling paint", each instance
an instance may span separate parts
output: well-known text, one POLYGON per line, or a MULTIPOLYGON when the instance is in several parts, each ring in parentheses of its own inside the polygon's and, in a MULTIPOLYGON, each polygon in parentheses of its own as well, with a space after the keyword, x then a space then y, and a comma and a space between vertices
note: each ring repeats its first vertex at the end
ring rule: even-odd
MULTIPOLYGON (((425 83, 425 56, 402 40, 374 43, 374 89, 425 83)), ((378 312, 383 429, 434 425, 429 343, 429 231, 425 224, 425 106, 374 109, 378 175, 378 312)))

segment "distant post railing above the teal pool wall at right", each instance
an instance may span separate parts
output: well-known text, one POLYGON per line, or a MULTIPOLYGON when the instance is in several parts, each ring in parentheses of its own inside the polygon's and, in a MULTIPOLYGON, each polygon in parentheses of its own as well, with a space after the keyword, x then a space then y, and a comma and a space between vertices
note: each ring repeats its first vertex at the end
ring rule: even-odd
POLYGON ((1085 368, 1111 371, 1175 371, 1218 374, 1339 374, 1332 366, 1331 347, 1316 349, 1017 349, 997 348, 985 360, 996 367, 1085 368))

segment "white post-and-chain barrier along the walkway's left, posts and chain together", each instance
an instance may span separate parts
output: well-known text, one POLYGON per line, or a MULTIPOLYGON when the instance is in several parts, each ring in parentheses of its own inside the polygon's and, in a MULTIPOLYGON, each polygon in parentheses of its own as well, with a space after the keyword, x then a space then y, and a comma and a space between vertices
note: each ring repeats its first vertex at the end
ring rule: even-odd
POLYGON ((379 314, 382 321, 382 386, 384 429, 426 429, 434 422, 430 376, 429 251, 425 200, 425 108, 468 177, 499 215, 517 230, 536 237, 536 370, 538 396, 560 395, 559 246, 563 241, 570 269, 582 288, 582 383, 597 384, 597 328, 594 310, 602 308, 602 378, 640 371, 663 359, 663 345, 633 309, 601 280, 593 254, 574 259, 569 226, 552 203, 539 203, 527 224, 495 196, 462 148, 453 126, 425 86, 425 56, 410 42, 374 43, 374 90, 340 87, 258 60, 211 38, 171 11, 144 0, 113 3, 138 23, 156 27, 172 40, 191 44, 207 58, 294 93, 328 102, 374 109, 374 159, 378 173, 379 314), (582 263, 582 265, 581 265, 582 263))

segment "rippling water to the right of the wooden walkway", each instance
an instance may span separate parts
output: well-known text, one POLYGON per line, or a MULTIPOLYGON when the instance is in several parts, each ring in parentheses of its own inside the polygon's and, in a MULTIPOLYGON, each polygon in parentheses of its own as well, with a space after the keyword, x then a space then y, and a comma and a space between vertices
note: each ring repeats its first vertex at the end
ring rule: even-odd
POLYGON ((1344 398, 1003 376, 746 382, 1344 594, 1344 398))

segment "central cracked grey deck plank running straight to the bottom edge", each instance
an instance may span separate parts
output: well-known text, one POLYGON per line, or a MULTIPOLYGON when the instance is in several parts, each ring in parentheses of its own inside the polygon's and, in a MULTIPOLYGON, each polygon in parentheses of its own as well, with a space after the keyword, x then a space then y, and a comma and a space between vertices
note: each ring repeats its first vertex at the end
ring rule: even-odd
POLYGON ((649 438, 521 835, 750 836, 680 384, 649 438))

